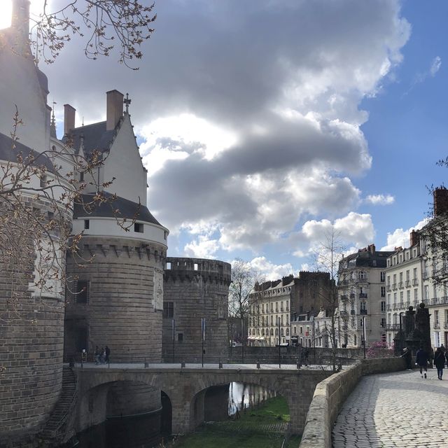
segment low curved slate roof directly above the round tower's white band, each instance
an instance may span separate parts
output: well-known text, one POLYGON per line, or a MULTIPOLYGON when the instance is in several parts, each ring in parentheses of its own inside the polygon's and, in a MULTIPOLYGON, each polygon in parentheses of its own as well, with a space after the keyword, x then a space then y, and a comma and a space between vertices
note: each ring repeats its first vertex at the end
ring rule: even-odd
MULTIPOLYGON (((105 193, 106 197, 111 198, 112 195, 105 193)), ((83 195, 83 204, 90 204, 93 200, 93 195, 83 195)), ((124 197, 117 197, 115 200, 111 199, 110 202, 104 202, 97 204, 96 207, 92 207, 92 211, 86 211, 82 204, 75 204, 73 207, 73 218, 127 218, 129 220, 137 219, 137 221, 144 221, 145 223, 151 223, 160 225, 157 219, 151 214, 143 204, 132 202, 124 197), (119 210, 119 213, 115 213, 119 210), (137 216, 136 213, 138 212, 137 216)))

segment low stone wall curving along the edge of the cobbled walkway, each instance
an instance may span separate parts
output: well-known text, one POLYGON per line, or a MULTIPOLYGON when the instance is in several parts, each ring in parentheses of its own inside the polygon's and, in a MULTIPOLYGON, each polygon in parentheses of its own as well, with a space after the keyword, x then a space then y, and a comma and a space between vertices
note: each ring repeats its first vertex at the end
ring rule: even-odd
POLYGON ((363 359, 321 381, 309 405, 300 448, 331 448, 332 425, 360 377, 398 370, 405 370, 403 358, 363 359))

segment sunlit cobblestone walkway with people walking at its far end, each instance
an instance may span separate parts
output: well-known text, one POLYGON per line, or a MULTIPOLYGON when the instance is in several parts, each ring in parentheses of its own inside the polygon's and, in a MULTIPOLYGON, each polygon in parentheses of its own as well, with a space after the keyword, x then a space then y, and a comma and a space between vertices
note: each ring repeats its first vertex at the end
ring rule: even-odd
POLYGON ((363 377, 332 431, 333 448, 442 448, 448 446, 448 370, 363 377))

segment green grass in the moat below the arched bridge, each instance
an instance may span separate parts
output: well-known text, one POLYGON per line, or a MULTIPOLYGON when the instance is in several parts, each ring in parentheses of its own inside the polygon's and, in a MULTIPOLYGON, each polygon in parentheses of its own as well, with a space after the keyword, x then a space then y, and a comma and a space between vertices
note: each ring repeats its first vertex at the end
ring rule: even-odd
MULTIPOLYGON (((283 433, 289 421, 289 409, 283 397, 269 398, 258 409, 241 412, 235 421, 218 421, 202 426, 193 434, 180 437, 174 448, 280 448, 283 433)), ((300 437, 293 436, 288 447, 296 448, 300 437)))

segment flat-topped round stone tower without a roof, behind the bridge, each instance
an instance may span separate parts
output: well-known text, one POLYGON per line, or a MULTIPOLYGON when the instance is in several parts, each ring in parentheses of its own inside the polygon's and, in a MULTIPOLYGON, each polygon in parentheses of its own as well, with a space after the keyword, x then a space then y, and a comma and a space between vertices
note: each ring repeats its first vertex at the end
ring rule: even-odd
POLYGON ((230 264, 202 258, 167 258, 164 275, 162 356, 165 362, 204 362, 227 356, 230 264))

